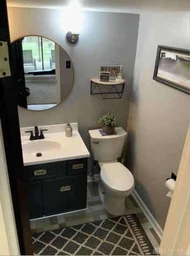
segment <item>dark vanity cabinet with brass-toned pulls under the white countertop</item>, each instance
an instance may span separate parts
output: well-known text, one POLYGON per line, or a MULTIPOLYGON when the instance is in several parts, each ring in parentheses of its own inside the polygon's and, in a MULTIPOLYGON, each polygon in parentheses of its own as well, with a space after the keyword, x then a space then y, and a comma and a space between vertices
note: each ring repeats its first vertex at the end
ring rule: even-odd
POLYGON ((86 208, 87 158, 25 166, 30 218, 86 208))

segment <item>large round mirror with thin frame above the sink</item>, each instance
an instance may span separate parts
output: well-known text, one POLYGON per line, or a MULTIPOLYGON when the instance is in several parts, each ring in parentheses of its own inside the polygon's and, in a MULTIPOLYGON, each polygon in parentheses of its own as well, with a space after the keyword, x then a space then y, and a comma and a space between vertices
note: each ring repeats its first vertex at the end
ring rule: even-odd
POLYGON ((69 55, 52 40, 27 36, 12 42, 18 105, 46 110, 63 102, 74 83, 69 55))

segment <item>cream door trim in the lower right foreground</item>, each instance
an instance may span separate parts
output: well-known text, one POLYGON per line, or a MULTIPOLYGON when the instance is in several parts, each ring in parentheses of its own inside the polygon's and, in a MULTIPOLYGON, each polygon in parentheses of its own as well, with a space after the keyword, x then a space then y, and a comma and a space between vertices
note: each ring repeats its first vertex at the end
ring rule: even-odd
POLYGON ((190 237, 190 125, 182 151, 181 162, 164 233, 160 243, 160 255, 186 255, 190 237))

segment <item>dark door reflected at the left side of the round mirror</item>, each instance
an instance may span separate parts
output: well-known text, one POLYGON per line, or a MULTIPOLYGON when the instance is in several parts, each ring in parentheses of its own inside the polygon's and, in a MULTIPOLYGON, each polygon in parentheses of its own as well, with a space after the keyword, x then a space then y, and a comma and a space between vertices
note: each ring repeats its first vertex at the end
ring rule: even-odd
POLYGON ((20 107, 27 108, 25 71, 23 65, 23 38, 11 43, 13 56, 13 73, 17 89, 17 100, 20 107))

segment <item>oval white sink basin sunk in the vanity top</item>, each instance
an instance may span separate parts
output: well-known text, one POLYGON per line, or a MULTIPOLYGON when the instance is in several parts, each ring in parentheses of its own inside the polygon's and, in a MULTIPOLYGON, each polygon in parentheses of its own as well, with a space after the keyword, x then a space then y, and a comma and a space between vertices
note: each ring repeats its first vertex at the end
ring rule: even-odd
POLYGON ((60 143, 56 141, 30 141, 23 145, 23 150, 28 154, 46 153, 49 151, 58 151, 60 149, 60 143))

